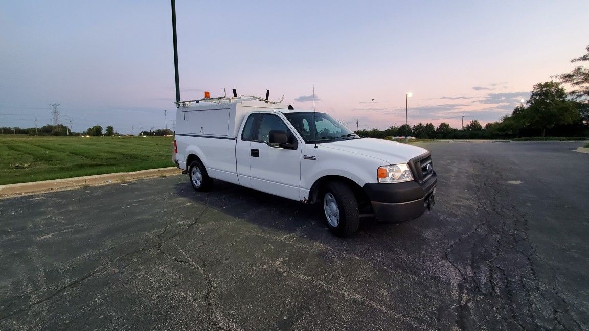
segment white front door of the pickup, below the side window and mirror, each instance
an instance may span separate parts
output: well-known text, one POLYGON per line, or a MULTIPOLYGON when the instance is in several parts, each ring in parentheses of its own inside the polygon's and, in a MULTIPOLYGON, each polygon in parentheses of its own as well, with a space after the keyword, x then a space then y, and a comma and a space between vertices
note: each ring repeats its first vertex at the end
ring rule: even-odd
POLYGON ((301 145, 296 135, 275 114, 262 115, 250 142, 250 177, 252 188, 276 196, 299 200, 301 145), (293 149, 270 143, 270 131, 286 132, 293 149))

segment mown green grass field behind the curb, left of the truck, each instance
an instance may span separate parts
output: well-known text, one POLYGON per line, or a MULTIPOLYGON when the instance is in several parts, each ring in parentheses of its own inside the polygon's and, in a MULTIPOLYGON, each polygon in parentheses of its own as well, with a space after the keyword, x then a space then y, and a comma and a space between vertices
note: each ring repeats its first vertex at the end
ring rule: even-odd
POLYGON ((0 185, 174 166, 173 137, 0 137, 0 185))

